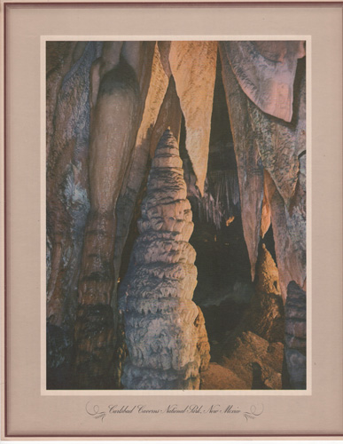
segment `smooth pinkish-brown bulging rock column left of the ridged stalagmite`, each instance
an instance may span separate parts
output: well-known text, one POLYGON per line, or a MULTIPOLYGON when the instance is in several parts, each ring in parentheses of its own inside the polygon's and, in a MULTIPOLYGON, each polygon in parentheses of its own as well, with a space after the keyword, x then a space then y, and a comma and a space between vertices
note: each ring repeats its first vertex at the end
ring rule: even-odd
POLYGON ((142 118, 151 50, 151 42, 112 42, 104 45, 92 69, 90 213, 74 328, 74 379, 80 388, 113 387, 115 207, 142 118))

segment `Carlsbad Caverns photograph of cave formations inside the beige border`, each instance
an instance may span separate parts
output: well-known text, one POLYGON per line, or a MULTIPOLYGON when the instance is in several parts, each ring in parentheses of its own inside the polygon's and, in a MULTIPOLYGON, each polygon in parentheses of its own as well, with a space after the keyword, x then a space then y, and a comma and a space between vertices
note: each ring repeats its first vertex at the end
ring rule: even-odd
POLYGON ((306 42, 47 41, 46 389, 306 390, 306 42))

